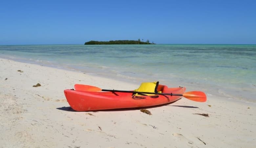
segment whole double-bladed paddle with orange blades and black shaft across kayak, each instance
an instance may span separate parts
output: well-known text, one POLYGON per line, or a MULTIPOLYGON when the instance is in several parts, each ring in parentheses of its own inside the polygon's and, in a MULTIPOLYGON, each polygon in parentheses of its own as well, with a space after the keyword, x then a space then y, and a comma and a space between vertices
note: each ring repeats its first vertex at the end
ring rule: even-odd
POLYGON ((197 102, 205 102, 206 101, 206 95, 203 92, 200 91, 192 91, 192 92, 186 92, 184 94, 173 94, 173 93, 151 93, 151 92, 136 92, 136 91, 121 91, 121 90, 107 90, 107 89, 101 89, 95 86, 90 85, 82 85, 82 84, 75 84, 75 90, 77 91, 89 91, 89 92, 122 92, 122 93, 140 93, 140 94, 155 94, 155 95, 178 95, 183 96, 189 100, 197 101, 197 102))

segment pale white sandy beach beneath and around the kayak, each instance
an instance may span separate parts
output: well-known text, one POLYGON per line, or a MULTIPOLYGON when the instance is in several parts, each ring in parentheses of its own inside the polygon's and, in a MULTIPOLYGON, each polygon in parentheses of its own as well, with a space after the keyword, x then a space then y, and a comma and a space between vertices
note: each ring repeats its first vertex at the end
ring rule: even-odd
POLYGON ((75 112, 63 93, 74 84, 119 90, 139 87, 134 82, 0 58, 0 147, 256 146, 255 104, 205 92, 204 103, 183 98, 147 108, 152 115, 139 109, 75 112), (33 87, 37 83, 41 86, 33 87))

